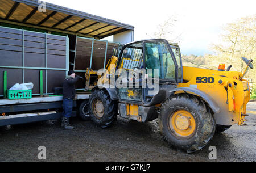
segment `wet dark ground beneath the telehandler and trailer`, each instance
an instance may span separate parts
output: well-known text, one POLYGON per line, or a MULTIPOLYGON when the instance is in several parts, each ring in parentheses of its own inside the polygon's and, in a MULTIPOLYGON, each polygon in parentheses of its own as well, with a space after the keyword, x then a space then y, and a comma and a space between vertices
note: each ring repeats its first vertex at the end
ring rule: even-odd
POLYGON ((256 102, 247 105, 246 126, 233 125, 216 133, 209 144, 187 154, 163 140, 155 121, 138 123, 121 119, 102 129, 91 121, 71 119, 73 130, 58 121, 0 128, 0 161, 42 161, 38 147, 46 147, 46 161, 256 161, 256 102), (217 159, 210 160, 209 146, 216 146, 217 159))

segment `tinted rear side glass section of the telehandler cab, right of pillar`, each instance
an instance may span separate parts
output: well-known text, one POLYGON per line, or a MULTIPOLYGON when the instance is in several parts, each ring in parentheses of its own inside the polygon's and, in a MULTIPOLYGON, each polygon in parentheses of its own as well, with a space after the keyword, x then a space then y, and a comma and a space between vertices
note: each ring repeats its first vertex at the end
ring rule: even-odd
POLYGON ((144 105, 151 106, 164 102, 164 93, 177 85, 178 64, 167 40, 144 41, 143 47, 147 78, 144 105))

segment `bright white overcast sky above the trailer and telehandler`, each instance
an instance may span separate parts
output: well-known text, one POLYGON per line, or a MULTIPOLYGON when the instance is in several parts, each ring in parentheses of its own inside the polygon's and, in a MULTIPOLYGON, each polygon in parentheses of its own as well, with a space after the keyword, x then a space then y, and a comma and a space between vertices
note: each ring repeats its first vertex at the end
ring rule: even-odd
POLYGON ((210 53, 209 45, 220 41, 221 27, 238 18, 256 15, 254 0, 44 0, 59 6, 134 26, 134 40, 149 39, 159 24, 176 16, 181 54, 210 53))

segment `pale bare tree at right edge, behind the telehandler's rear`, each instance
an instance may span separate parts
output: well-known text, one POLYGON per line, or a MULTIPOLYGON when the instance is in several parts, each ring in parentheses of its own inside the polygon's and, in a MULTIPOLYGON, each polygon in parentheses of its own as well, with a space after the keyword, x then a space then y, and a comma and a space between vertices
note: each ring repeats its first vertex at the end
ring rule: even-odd
MULTIPOLYGON (((216 53, 220 62, 231 64, 232 69, 243 71, 246 67, 241 57, 255 60, 256 56, 256 15, 237 19, 236 22, 227 23, 223 28, 220 44, 212 44, 211 49, 216 53)), ((255 61, 253 62, 255 64, 255 61)), ((255 78, 255 69, 247 73, 247 77, 255 78)))

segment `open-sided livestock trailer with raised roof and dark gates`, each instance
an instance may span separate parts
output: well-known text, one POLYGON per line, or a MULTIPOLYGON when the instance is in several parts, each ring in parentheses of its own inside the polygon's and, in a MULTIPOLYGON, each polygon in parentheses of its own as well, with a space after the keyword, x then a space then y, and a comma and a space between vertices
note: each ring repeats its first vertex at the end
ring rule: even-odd
MULTIPOLYGON (((68 70, 84 77, 87 68, 104 69, 114 47, 133 41, 133 26, 50 3, 39 12, 39 6, 0 1, 0 126, 59 119, 68 70), (114 41, 102 40, 111 35, 114 41), (15 83, 28 82, 34 84, 29 98, 10 95, 15 83)), ((89 95, 84 78, 76 83, 73 116, 86 119, 89 95)))

